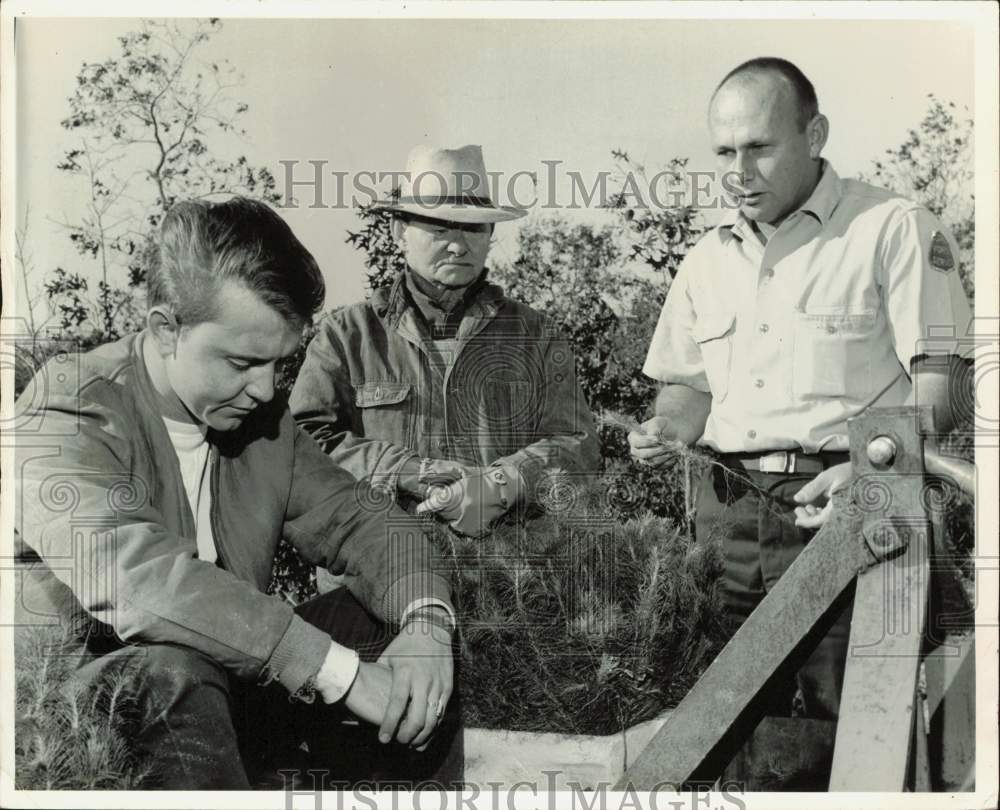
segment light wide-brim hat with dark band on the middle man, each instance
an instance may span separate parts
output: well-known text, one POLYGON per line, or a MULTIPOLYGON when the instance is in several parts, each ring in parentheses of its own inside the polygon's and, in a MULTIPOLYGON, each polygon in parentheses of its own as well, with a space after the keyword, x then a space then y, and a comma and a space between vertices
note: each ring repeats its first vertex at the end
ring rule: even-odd
POLYGON ((469 223, 506 222, 528 213, 493 202, 483 149, 473 144, 458 149, 415 147, 406 161, 399 196, 374 207, 469 223))

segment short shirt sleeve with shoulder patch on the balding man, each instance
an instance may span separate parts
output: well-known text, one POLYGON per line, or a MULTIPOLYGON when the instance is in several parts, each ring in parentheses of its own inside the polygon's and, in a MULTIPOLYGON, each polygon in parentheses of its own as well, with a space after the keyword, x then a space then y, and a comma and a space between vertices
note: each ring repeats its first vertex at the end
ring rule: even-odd
POLYGON ((972 312, 959 277, 955 240, 925 208, 903 211, 883 242, 881 284, 896 356, 956 354, 972 312))

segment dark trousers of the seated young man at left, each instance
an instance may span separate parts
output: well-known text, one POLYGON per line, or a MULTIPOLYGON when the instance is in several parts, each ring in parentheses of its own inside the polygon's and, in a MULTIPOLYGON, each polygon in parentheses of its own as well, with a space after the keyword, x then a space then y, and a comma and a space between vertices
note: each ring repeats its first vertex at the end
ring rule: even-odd
MULTIPOLYGON (((296 612, 357 650, 362 661, 377 660, 392 640, 347 588, 299 605, 296 612)), ((341 703, 328 705, 319 694, 313 703, 289 700, 279 684, 240 681, 189 647, 120 647, 85 660, 75 678, 86 683, 123 667, 138 684, 140 717, 129 742, 151 766, 149 787, 335 789, 461 779, 457 689, 430 746, 416 752, 379 743, 377 728, 354 721, 341 703)))

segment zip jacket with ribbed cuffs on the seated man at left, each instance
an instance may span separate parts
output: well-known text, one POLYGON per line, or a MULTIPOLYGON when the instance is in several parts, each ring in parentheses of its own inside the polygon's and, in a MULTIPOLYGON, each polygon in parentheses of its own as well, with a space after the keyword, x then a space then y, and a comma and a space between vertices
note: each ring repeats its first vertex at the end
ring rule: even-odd
POLYGON ((264 593, 282 535, 387 623, 416 600, 448 602, 417 520, 373 508, 277 397, 237 430, 208 433, 219 564, 198 559, 144 339, 55 358, 18 403, 18 533, 50 601, 122 641, 192 647, 293 693, 330 637, 264 593))

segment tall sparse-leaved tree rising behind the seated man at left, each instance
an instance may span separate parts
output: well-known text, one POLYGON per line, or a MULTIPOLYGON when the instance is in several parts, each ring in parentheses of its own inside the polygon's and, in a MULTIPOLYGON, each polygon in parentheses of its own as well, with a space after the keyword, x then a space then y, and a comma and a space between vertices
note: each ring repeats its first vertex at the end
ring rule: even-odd
POLYGON ((176 201, 279 201, 269 169, 217 156, 222 142, 246 136, 248 109, 232 96, 236 70, 211 57, 220 29, 217 19, 143 20, 118 38, 114 57, 80 67, 62 121, 73 145, 57 168, 82 181, 87 202, 63 225, 99 280, 60 267, 45 284, 63 334, 113 340, 141 328, 152 234, 176 201))

